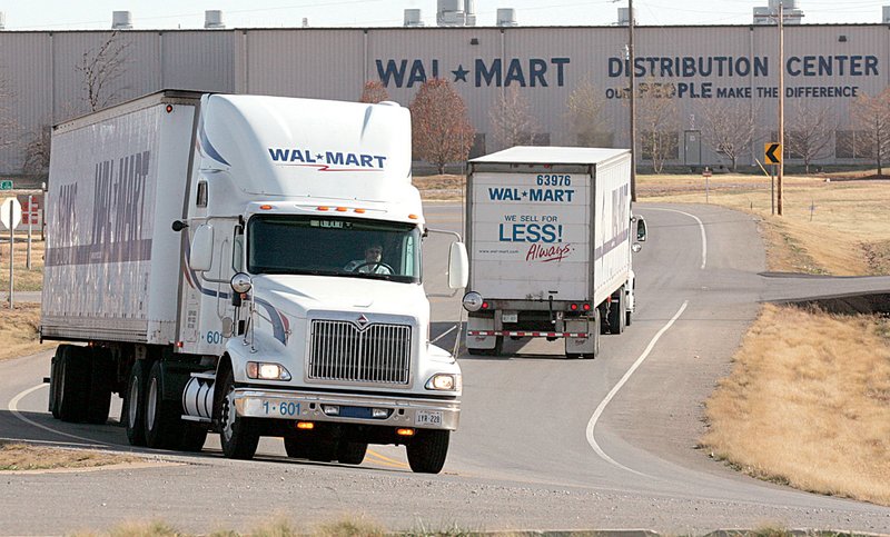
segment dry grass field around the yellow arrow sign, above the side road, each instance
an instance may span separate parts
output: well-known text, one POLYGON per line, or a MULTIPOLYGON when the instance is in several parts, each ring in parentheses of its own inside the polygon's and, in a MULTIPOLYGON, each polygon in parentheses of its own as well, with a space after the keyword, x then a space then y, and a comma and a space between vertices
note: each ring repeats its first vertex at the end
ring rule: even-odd
POLYGON ((771 270, 844 276, 890 272, 887 198, 890 181, 785 177, 782 217, 773 216, 764 177, 641 176, 642 201, 704 203, 762 219, 771 270), (812 209, 812 210, 811 210, 812 209))

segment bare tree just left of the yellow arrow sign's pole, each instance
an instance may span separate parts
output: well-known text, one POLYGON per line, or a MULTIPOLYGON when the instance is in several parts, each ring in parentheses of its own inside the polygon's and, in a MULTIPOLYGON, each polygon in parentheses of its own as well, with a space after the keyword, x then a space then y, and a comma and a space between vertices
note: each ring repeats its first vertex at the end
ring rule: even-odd
POLYGON ((755 110, 749 101, 733 99, 712 100, 702 107, 702 141, 732 162, 732 171, 739 157, 751 151, 756 122, 755 110))

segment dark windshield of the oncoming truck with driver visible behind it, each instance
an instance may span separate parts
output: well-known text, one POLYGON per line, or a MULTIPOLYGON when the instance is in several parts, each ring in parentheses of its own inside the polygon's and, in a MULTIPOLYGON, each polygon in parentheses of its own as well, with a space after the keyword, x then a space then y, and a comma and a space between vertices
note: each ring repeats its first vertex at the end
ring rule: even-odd
POLYGON ((247 270, 421 281, 421 230, 375 220, 255 216, 247 226, 247 270))

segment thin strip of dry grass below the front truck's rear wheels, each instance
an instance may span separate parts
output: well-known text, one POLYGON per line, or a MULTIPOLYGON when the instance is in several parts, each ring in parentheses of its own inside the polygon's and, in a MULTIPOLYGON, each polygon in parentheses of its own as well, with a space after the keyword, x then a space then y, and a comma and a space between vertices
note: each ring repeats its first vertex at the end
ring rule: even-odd
POLYGON ((108 455, 80 449, 59 449, 0 441, 0 471, 49 470, 55 468, 92 468, 136 463, 126 455, 108 455))

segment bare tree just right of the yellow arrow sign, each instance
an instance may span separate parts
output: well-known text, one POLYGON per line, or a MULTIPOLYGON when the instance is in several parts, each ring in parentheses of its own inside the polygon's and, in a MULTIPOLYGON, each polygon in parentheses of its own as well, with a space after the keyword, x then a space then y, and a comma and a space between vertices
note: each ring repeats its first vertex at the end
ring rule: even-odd
POLYGON ((785 130, 785 151, 803 160, 807 173, 810 163, 829 157, 831 135, 838 128, 834 109, 814 101, 798 100, 790 129, 785 130))

